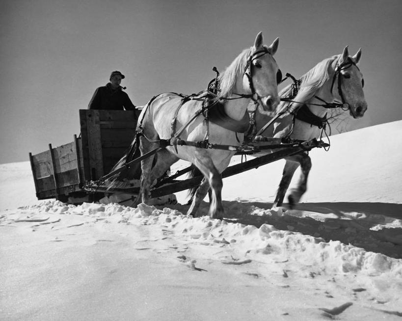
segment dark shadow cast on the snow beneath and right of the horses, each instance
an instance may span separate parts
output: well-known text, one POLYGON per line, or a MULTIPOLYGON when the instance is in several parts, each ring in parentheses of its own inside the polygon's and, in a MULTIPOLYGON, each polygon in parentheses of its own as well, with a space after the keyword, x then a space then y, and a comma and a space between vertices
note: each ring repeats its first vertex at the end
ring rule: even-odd
MULTIPOLYGON (((390 203, 301 203, 289 210, 287 204, 271 210, 271 203, 225 201, 225 220, 244 225, 273 225, 279 230, 291 230, 321 237, 325 241, 341 241, 366 251, 402 258, 402 228, 382 228, 402 219, 402 204, 390 203), (313 218, 314 217, 314 218, 313 218)), ((180 206, 185 213, 188 206, 180 206)), ((209 205, 201 205, 199 213, 206 215, 209 205)))

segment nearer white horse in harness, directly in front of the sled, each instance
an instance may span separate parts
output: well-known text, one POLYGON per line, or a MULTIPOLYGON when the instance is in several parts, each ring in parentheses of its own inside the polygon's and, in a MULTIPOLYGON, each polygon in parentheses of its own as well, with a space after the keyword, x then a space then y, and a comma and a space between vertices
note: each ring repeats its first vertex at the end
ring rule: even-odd
MULTIPOLYGON (((215 106, 220 106, 220 112, 228 116, 228 122, 236 124, 243 123, 244 119, 248 121, 247 106, 250 100, 258 102, 264 110, 276 108, 279 104, 277 74, 280 71, 273 55, 278 49, 278 42, 277 38, 269 47, 264 46, 260 32, 254 46, 245 49, 219 76, 219 93, 210 102, 213 107, 209 108, 209 111, 215 106)), ((211 187, 209 214, 212 218, 223 218, 220 173, 228 166, 235 151, 174 144, 175 141, 182 140, 192 143, 207 141, 208 144, 241 145, 244 137, 242 133, 206 121, 203 113, 200 113, 201 109, 205 110, 206 104, 208 103, 205 99, 163 93, 154 97, 142 110, 137 125, 141 155, 158 148, 161 139, 165 142, 170 139, 170 143, 156 155, 156 161, 155 155, 141 160, 140 195, 143 203, 149 199, 152 182, 161 177, 174 162, 182 159, 191 162, 204 175, 188 214, 195 216, 202 199, 211 187), (179 130, 176 131, 176 128, 179 130)), ((134 144, 135 140, 132 146, 134 144)), ((114 168, 124 165, 128 154, 126 153, 114 168)), ((121 178, 119 174, 115 177, 117 180, 121 178)))

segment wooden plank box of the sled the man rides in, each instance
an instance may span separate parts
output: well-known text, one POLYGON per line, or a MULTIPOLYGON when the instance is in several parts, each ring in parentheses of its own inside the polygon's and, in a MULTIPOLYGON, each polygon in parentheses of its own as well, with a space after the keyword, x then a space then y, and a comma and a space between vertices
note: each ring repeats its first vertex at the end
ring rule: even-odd
POLYGON ((38 199, 83 191, 91 180, 107 174, 134 139, 140 111, 80 109, 79 137, 71 143, 29 153, 38 199))

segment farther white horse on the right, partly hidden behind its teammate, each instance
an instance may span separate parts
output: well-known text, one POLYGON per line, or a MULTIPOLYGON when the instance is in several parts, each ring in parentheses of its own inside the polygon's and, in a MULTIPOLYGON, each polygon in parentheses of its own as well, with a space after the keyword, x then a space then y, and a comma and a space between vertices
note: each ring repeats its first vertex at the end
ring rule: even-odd
MULTIPOLYGON (((276 113, 284 113, 279 117, 273 127, 268 127, 262 134, 266 137, 289 137, 297 140, 310 140, 320 138, 322 130, 327 123, 326 113, 331 104, 339 102, 336 106, 343 106, 349 110, 353 118, 363 117, 367 103, 364 98, 362 73, 357 67, 361 58, 361 49, 354 56, 349 56, 348 47, 343 54, 334 55, 322 60, 314 68, 304 74, 299 80, 297 95, 293 102, 282 101, 276 113), (322 106, 325 105, 325 106, 322 106), (292 112, 295 112, 295 118, 292 112)), ((294 86, 285 87, 280 96, 292 95, 294 86)), ((250 106, 251 110, 252 107, 250 106)), ((258 107, 256 110, 257 133, 262 130, 273 118, 258 107)), ((263 151, 255 156, 262 156, 271 151, 263 151)), ((300 178, 297 186, 288 196, 290 207, 299 202, 307 190, 307 178, 311 169, 311 159, 307 153, 300 153, 286 158, 282 180, 273 203, 273 207, 281 206, 286 191, 298 166, 301 166, 300 178)))

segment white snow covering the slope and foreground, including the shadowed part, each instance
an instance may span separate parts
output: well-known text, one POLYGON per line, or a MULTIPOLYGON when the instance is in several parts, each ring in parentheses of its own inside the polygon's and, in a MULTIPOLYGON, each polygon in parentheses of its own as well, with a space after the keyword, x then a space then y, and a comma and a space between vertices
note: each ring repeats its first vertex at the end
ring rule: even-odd
POLYGON ((295 210, 271 209, 283 161, 227 178, 223 221, 38 201, 29 162, 1 164, 0 320, 399 320, 401 137, 330 137, 295 210))

